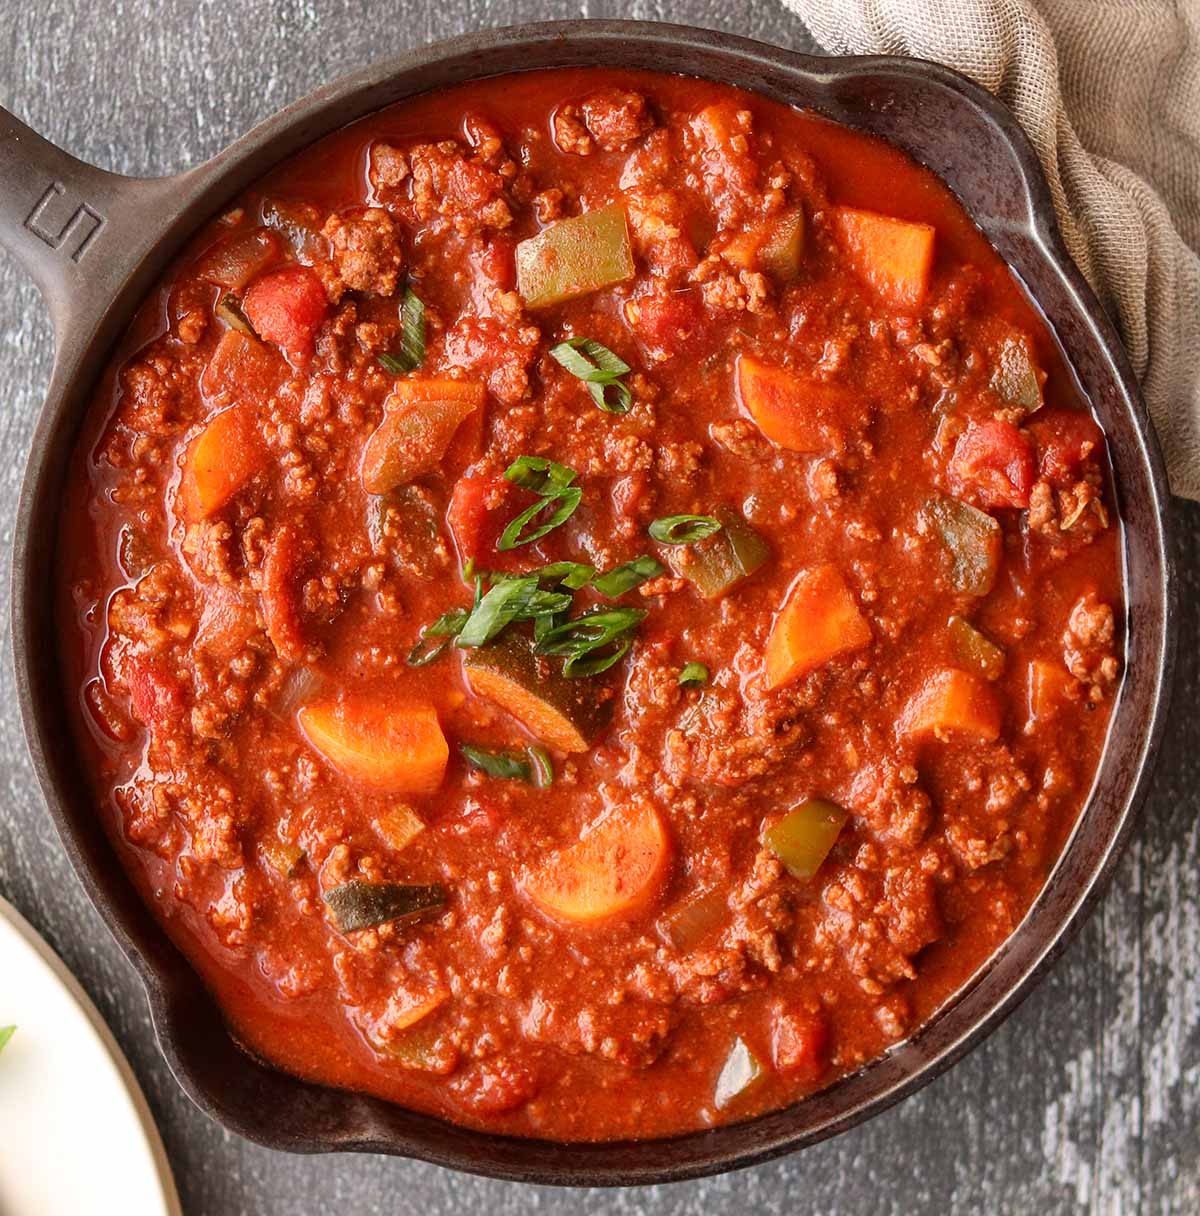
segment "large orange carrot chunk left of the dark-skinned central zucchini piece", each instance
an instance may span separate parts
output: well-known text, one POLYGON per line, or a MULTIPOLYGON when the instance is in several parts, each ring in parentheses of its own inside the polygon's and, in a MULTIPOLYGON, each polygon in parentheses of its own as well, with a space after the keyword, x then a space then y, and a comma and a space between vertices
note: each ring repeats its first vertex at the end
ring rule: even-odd
POLYGON ((354 698, 305 705, 300 728, 347 777, 389 794, 432 794, 450 759, 433 705, 354 698))

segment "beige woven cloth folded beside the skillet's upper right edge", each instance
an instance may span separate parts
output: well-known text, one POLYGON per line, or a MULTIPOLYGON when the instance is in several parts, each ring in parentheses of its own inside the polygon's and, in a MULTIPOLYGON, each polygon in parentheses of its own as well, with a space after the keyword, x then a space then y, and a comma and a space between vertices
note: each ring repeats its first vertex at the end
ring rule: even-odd
POLYGON ((836 55, 914 55, 1007 102, 1116 320, 1174 494, 1200 500, 1200 0, 784 0, 836 55))

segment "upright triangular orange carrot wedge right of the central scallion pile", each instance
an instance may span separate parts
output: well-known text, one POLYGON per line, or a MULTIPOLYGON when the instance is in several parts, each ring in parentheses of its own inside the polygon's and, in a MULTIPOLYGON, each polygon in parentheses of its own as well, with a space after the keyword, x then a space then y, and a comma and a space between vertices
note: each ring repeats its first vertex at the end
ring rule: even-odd
POLYGON ((871 626, 835 565, 802 572, 774 618, 764 670, 778 688, 839 654, 871 644, 871 626))

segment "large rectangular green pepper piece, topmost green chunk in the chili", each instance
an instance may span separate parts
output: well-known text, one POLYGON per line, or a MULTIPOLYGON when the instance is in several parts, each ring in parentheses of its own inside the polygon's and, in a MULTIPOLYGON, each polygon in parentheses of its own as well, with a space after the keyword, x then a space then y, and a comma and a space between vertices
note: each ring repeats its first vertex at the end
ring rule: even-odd
POLYGON ((620 203, 557 220, 517 246, 517 291, 526 308, 562 304, 633 277, 620 203))

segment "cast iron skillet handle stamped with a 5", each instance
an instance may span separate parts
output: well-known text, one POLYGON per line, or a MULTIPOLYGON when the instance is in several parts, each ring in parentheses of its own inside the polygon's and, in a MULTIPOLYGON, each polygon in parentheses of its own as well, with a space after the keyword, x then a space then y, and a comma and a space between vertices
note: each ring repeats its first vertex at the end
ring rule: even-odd
POLYGON ((0 107, 0 244, 41 289, 60 351, 145 252, 156 186, 78 161, 0 107))

